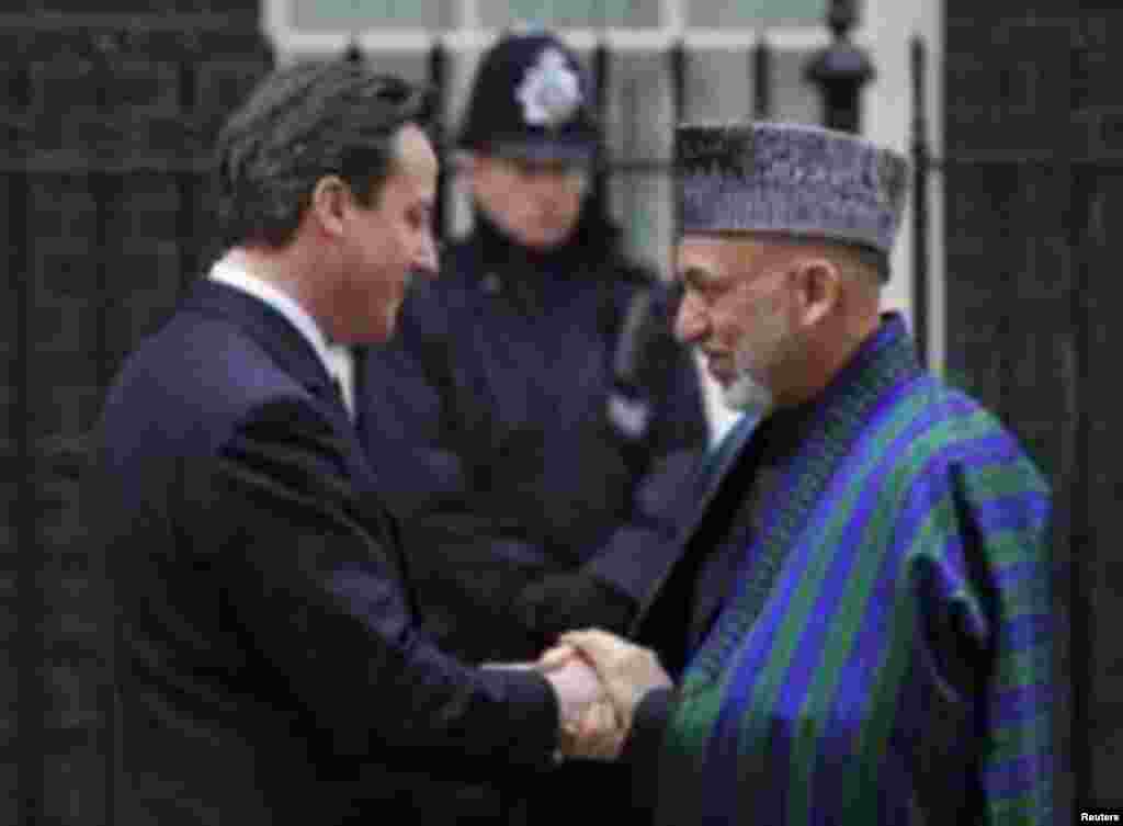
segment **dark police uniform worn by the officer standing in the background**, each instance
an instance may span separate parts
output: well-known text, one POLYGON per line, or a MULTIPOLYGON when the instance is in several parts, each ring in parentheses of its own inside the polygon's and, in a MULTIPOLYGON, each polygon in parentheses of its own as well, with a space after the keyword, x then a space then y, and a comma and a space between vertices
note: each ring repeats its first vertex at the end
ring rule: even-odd
POLYGON ((566 628, 623 632, 677 553, 707 437, 665 309, 638 387, 617 380, 631 301, 654 290, 665 308, 667 290, 606 224, 548 254, 476 226, 410 292, 358 390, 422 626, 474 663, 533 659, 566 628))

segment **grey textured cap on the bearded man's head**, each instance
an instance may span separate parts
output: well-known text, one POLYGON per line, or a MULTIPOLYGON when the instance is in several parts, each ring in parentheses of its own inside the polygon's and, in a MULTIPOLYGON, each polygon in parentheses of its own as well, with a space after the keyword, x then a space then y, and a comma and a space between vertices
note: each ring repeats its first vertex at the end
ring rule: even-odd
POLYGON ((909 162, 891 149, 760 121, 684 124, 675 144, 683 233, 779 233, 893 249, 909 162))

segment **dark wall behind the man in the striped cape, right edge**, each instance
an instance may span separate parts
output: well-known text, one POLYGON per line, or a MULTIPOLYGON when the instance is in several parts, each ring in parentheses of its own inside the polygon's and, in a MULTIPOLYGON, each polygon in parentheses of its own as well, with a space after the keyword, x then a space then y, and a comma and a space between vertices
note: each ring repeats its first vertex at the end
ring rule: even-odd
POLYGON ((1058 823, 1074 801, 1123 805, 1123 11, 1107 7, 946 4, 948 372, 1014 427, 1057 494, 1071 769, 1058 823))

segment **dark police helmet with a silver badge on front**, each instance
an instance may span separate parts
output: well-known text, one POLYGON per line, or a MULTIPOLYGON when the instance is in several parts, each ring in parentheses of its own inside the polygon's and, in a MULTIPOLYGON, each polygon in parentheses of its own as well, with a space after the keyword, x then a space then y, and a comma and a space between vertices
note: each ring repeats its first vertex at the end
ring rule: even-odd
POLYGON ((460 145, 487 154, 585 163, 599 139, 588 78, 556 35, 511 30, 484 55, 460 145))

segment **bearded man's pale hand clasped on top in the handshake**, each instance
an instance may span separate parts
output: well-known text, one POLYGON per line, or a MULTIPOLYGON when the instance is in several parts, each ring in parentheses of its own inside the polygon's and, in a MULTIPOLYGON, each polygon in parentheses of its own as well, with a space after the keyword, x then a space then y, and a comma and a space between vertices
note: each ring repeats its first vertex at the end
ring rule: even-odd
POLYGON ((582 659, 596 670, 615 710, 622 734, 621 743, 631 730, 636 707, 643 696, 654 689, 670 688, 673 684, 652 651, 608 632, 569 632, 562 635, 560 643, 579 652, 582 659))

